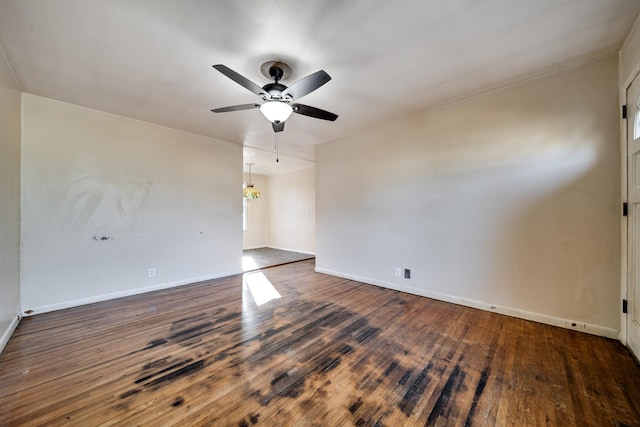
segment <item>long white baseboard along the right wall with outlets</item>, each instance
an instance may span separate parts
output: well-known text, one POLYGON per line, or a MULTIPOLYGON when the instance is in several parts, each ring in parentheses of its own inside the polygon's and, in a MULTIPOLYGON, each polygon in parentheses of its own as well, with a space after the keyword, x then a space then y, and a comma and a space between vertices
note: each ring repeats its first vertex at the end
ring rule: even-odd
POLYGON ((361 277, 353 274, 341 273, 338 271, 327 270, 324 268, 316 267, 316 271, 318 273, 324 273, 324 274, 329 274, 331 276, 342 277, 344 279, 355 280, 365 284, 380 286, 383 288, 393 289, 396 291, 406 292, 413 295, 432 298, 439 301, 450 302, 453 304, 463 305, 465 307, 478 308, 480 310, 491 311, 494 313, 504 314, 506 316, 511 316, 511 317, 517 317, 519 319, 531 320, 533 322, 544 323, 546 325, 559 326, 565 329, 586 332, 588 334, 598 335, 601 337, 612 338, 612 339, 619 339, 620 337, 619 330, 614 328, 608 328, 606 326, 594 325, 591 323, 579 322, 571 319, 564 319, 561 317, 550 316, 547 314, 521 310, 519 308, 489 304, 484 301, 476 301, 472 299, 457 297, 454 295, 442 294, 439 292, 425 291, 423 289, 416 289, 409 286, 383 282, 383 281, 371 279, 368 277, 361 277))

